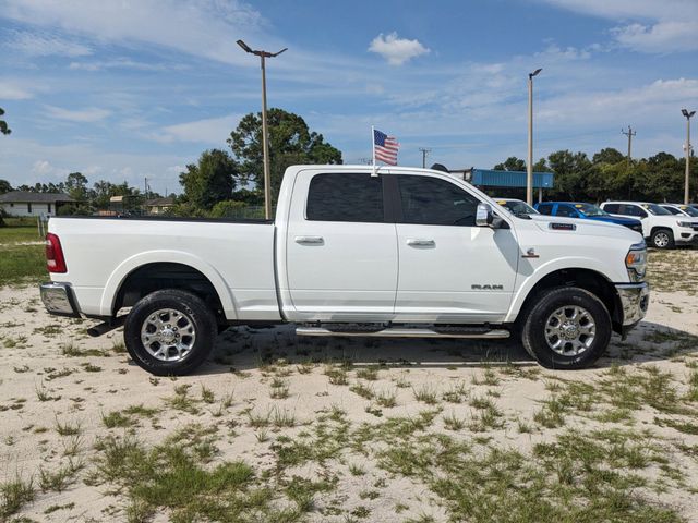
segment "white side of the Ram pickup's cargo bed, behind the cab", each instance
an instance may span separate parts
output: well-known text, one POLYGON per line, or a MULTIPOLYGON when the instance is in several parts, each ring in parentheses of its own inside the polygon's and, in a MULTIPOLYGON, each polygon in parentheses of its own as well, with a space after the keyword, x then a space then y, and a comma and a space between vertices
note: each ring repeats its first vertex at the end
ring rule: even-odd
POLYGON ((274 222, 178 217, 60 217, 60 239, 81 312, 112 314, 124 279, 146 264, 182 264, 214 284, 227 319, 280 319, 274 273, 274 222))

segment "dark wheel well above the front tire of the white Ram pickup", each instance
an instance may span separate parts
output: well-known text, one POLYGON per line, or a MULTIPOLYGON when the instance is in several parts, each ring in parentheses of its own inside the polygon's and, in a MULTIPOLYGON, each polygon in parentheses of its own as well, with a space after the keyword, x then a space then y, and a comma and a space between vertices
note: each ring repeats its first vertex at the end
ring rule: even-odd
MULTIPOLYGON (((609 309, 611 319, 614 324, 614 329, 619 328, 619 323, 622 320, 619 314, 622 313, 622 309, 618 304, 615 285, 609 281, 605 276, 590 269, 561 269, 544 276, 538 283, 535 283, 535 285, 533 285, 531 292, 529 292, 524 305, 521 306, 521 311, 526 311, 527 307, 529 307, 535 300, 535 296, 542 291, 554 287, 578 287, 591 292, 593 295, 599 297, 599 300, 601 300, 609 309)), ((519 318, 522 316, 524 315, 519 315, 519 318)))

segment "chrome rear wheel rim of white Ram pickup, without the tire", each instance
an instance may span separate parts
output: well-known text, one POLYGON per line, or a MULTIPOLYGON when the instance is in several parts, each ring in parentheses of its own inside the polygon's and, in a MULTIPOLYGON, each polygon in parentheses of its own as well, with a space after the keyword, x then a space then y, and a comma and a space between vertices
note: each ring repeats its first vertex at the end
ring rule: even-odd
POLYGON ((164 362, 183 360, 194 346, 196 331, 186 314, 160 308, 148 315, 141 327, 141 342, 148 353, 164 362))

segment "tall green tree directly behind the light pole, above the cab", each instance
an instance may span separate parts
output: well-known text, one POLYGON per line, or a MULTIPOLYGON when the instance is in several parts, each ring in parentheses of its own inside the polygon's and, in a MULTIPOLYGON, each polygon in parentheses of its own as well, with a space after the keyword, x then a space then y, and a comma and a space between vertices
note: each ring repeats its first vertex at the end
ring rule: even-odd
MULTIPOLYGON (((322 134, 311 132, 298 114, 282 109, 267 111, 269 133, 269 173, 272 200, 275 202, 286 168, 296 163, 341 163, 341 151, 325 142, 322 134)), ((264 187, 262 114, 245 115, 230 133, 228 144, 240 162, 242 181, 264 187)))

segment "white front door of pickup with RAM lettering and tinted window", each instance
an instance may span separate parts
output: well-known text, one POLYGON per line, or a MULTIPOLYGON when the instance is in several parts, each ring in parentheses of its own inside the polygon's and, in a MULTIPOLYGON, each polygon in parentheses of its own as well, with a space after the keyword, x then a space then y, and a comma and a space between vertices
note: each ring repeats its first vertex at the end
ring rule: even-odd
POLYGON ((514 229, 476 227, 479 199, 449 177, 399 174, 396 320, 500 321, 514 293, 514 229))

